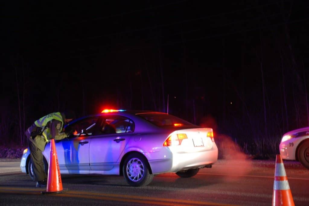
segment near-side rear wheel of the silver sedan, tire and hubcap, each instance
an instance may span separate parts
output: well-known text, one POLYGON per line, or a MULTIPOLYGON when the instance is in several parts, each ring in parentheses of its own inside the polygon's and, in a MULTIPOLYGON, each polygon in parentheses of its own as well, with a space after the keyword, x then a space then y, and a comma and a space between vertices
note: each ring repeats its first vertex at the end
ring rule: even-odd
POLYGON ((154 178, 154 175, 150 174, 147 159, 139 153, 132 153, 125 158, 122 172, 125 181, 133 187, 146 186, 154 178))

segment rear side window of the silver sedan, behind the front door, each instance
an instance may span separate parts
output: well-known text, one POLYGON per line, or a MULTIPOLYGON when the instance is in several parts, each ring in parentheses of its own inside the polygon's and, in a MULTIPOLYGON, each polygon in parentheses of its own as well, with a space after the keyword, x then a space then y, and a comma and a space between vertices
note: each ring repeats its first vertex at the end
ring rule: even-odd
POLYGON ((100 127, 101 134, 126 133, 134 131, 134 123, 125 117, 105 118, 100 127))

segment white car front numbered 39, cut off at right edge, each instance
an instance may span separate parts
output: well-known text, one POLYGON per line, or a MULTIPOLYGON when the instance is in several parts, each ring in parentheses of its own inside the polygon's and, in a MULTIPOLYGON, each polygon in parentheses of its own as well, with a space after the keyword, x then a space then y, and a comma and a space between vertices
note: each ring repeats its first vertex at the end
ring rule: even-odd
POLYGON ((279 149, 282 159, 299 161, 309 169, 309 127, 284 134, 279 149))

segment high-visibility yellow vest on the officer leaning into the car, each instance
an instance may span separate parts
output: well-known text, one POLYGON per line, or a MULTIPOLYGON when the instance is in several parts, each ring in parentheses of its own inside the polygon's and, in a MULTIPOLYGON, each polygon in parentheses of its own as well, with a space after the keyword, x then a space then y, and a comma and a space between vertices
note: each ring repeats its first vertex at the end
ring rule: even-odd
POLYGON ((60 132, 63 127, 63 120, 60 112, 50 113, 34 122, 37 127, 41 128, 41 131, 43 130, 42 136, 44 137, 45 142, 49 142, 49 140, 51 139, 50 129, 48 127, 46 128, 46 125, 53 119, 61 122, 61 127, 59 129, 60 132))

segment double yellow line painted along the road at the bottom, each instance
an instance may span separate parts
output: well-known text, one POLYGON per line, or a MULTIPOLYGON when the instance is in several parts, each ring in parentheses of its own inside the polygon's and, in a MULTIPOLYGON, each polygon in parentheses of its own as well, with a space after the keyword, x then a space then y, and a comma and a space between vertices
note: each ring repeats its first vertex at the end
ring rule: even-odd
MULTIPOLYGON (((34 192, 41 192, 41 191, 42 189, 39 188, 34 189, 34 188, 0 187, 0 193, 25 192, 26 194, 33 194, 34 192)), ((138 202, 146 204, 154 204, 155 202, 155 204, 160 205, 170 205, 172 203, 174 204, 177 203, 177 205, 217 205, 217 206, 229 205, 229 204, 219 204, 219 203, 193 201, 193 200, 175 200, 168 198, 130 196, 130 195, 108 194, 108 193, 93 193, 93 192, 71 191, 71 190, 62 194, 57 194, 57 196, 79 197, 79 198, 98 199, 98 200, 113 200, 113 201, 124 201, 124 202, 138 202)))

